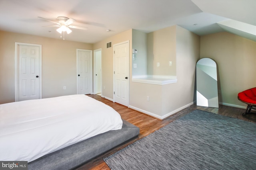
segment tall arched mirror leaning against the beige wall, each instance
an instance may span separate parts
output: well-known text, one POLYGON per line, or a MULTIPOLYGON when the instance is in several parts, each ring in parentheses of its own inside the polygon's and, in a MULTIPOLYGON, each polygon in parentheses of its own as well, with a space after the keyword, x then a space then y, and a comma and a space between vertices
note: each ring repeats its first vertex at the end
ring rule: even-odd
POLYGON ((219 108, 217 65, 210 58, 196 63, 196 105, 219 108))

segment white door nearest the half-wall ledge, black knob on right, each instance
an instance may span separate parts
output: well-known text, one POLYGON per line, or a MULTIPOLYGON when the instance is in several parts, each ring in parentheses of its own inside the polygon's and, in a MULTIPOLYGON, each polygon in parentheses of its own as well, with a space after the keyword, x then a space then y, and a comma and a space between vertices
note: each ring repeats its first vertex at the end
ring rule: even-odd
POLYGON ((129 41, 114 45, 114 102, 129 105, 129 41))

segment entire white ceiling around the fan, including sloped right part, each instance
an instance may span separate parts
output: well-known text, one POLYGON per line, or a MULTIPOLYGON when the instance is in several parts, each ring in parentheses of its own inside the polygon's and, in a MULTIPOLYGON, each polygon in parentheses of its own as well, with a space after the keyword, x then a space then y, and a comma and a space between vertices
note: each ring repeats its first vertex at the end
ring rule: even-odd
POLYGON ((75 19, 72 25, 88 30, 72 29, 65 39, 84 43, 128 29, 149 33, 172 25, 198 35, 228 31, 256 41, 256 0, 0 0, 0 30, 60 39, 57 27, 43 27, 54 23, 38 16, 75 19), (228 20, 245 24, 234 28, 228 20), (246 25, 252 32, 240 29, 246 25))

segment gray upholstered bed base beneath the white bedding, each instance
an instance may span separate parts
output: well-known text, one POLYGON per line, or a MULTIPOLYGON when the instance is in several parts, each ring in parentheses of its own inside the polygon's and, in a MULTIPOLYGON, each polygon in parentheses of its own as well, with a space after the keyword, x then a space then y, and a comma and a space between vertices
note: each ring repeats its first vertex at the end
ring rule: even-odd
POLYGON ((70 170, 132 139, 140 133, 135 125, 123 120, 122 129, 108 131, 44 155, 28 163, 28 170, 70 170))

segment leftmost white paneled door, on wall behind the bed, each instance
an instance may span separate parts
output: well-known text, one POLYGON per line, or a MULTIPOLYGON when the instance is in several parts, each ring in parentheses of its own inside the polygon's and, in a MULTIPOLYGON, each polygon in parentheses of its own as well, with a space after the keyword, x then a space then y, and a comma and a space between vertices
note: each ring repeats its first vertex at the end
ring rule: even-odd
POLYGON ((15 101, 42 98, 41 45, 15 44, 15 101))

